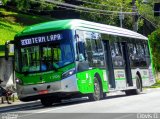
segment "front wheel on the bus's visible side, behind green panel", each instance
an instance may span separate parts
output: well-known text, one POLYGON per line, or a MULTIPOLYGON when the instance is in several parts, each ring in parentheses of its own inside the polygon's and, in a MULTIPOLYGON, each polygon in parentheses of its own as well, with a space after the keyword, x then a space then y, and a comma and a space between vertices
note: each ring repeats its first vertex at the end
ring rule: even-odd
POLYGON ((97 101, 101 99, 101 87, 97 77, 94 77, 94 93, 89 94, 89 100, 97 101))

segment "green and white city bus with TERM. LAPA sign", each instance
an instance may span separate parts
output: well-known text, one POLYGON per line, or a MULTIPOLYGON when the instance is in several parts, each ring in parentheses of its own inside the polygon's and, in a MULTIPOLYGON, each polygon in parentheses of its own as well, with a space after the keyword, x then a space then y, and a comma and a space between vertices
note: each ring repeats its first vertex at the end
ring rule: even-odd
POLYGON ((95 101, 110 91, 139 94, 155 83, 148 39, 127 29, 58 20, 27 27, 12 43, 21 101, 40 99, 44 106, 79 96, 95 101))

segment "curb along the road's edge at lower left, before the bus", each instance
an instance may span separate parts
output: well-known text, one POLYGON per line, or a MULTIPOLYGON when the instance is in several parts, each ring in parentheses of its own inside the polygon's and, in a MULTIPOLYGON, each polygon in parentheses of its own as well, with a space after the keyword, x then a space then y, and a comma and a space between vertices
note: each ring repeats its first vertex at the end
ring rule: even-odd
POLYGON ((0 107, 0 113, 6 113, 9 111, 14 111, 16 109, 22 109, 22 108, 26 108, 26 107, 34 107, 34 106, 38 106, 41 103, 39 101, 36 102, 26 102, 26 103, 22 103, 22 104, 15 104, 15 105, 9 105, 6 107, 0 107))

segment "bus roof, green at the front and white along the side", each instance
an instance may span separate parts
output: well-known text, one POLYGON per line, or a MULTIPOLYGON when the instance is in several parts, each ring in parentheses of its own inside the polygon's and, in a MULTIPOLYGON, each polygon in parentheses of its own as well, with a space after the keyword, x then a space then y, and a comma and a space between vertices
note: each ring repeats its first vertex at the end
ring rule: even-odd
POLYGON ((147 40, 147 37, 139 33, 133 32, 131 30, 95 22, 89 22, 80 19, 57 20, 57 21, 32 25, 26 27, 22 32, 18 33, 16 37, 51 32, 51 31, 65 30, 65 29, 95 31, 104 34, 147 40))

